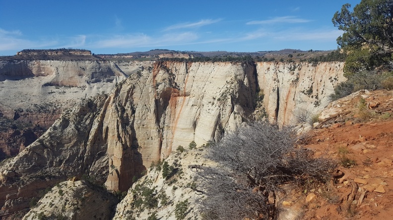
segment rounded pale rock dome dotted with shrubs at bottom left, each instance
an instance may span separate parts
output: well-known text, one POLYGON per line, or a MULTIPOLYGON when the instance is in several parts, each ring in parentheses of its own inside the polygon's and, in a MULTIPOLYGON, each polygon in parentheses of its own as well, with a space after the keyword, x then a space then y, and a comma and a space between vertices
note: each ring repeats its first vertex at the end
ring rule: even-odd
POLYGON ((114 215, 118 202, 100 186, 80 180, 64 181, 45 194, 22 220, 107 220, 114 215))

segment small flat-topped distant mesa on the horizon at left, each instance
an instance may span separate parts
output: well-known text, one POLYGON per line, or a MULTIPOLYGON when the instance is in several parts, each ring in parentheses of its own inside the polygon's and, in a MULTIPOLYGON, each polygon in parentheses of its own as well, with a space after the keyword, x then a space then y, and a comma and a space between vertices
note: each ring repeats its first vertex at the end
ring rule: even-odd
POLYGON ((34 55, 83 55, 91 56, 91 51, 87 49, 24 49, 16 53, 17 56, 34 56, 34 55))

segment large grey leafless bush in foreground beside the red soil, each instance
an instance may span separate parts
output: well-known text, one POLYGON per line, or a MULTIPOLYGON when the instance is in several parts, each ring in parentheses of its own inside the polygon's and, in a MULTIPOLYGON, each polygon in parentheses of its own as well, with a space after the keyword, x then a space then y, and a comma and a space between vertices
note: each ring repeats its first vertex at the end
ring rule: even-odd
POLYGON ((295 141, 291 128, 256 122, 211 146, 208 157, 222 167, 198 173, 204 219, 274 219, 281 184, 326 180, 334 163, 314 159, 295 141))

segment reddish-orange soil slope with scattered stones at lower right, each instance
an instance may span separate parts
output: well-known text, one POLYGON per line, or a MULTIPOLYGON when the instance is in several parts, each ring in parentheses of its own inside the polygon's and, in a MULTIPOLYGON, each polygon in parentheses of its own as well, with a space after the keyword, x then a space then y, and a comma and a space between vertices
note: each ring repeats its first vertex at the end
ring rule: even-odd
POLYGON ((335 179, 333 185, 327 187, 329 190, 316 188, 317 197, 302 206, 304 216, 301 219, 393 219, 393 120, 357 124, 347 121, 313 130, 311 134, 313 137, 306 147, 315 150, 316 156, 327 155, 337 160, 338 169, 345 176, 341 181, 335 179), (349 162, 354 160, 355 165, 351 166, 342 158, 348 158, 349 162), (346 210, 351 180, 357 182, 359 190, 351 208, 346 210), (377 192, 376 188, 381 187, 385 192, 377 192), (362 190, 366 189, 366 196, 358 205, 362 190))

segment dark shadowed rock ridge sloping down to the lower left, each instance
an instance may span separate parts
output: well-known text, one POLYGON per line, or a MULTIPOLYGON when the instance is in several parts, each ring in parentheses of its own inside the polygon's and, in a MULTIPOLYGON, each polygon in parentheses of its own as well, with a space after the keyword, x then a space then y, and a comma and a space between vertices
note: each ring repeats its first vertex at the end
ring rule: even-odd
POLYGON ((38 140, 15 158, 2 162, 0 217, 29 207, 38 192, 68 176, 104 179, 108 156, 100 115, 106 96, 86 100, 63 113, 38 140))

